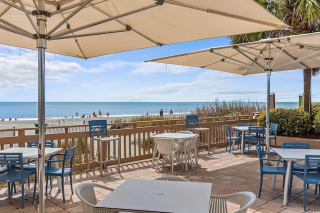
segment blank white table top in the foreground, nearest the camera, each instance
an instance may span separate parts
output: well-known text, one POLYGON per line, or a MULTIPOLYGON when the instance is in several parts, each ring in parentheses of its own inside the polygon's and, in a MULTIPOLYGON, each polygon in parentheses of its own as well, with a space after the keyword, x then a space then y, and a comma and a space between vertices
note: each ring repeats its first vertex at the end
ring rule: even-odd
POLYGON ((212 183, 127 179, 95 207, 130 212, 207 213, 212 183))

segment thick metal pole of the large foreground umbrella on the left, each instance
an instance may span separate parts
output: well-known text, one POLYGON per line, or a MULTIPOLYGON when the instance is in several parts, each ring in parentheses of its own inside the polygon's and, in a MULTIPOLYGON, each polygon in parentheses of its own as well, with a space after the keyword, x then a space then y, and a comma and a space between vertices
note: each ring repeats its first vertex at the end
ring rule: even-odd
MULTIPOLYGON (((39 9, 44 11, 44 0, 39 0, 39 9)), ((41 13, 41 12, 40 12, 41 13)), ((36 39, 36 47, 38 48, 38 159, 37 159, 37 180, 38 180, 38 194, 37 202, 34 206, 38 207, 38 212, 44 213, 44 67, 45 67, 45 48, 46 39, 41 36, 45 34, 46 15, 37 14, 39 36, 36 39)))

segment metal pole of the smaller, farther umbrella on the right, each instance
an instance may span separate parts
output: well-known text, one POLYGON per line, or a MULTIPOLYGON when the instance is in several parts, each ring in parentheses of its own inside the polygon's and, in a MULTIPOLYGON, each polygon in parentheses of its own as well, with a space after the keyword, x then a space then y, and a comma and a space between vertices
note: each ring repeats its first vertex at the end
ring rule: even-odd
MULTIPOLYGON (((270 63, 268 63, 270 64, 270 63)), ((270 119, 270 75, 271 75, 271 70, 267 69, 265 71, 266 73, 266 111, 265 111, 265 145, 266 145, 266 152, 270 152, 270 146, 269 146, 269 119, 270 119)), ((266 155, 266 158, 268 156, 266 155)), ((265 160, 264 165, 271 165, 270 161, 265 160)))

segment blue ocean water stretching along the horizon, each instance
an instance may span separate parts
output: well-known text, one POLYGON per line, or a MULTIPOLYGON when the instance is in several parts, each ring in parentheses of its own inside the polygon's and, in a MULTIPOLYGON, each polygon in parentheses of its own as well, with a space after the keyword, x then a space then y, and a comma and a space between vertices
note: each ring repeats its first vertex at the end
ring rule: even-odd
MULTIPOLYGON (((102 115, 108 112, 112 116, 158 114, 160 109, 164 114, 187 113, 206 102, 46 102, 45 117, 78 117, 89 116, 101 110, 102 115)), ((263 102, 262 102, 263 104, 263 102)), ((275 102, 275 107, 296 108, 298 102, 275 102)), ((0 102, 0 119, 37 119, 37 102, 0 102)))

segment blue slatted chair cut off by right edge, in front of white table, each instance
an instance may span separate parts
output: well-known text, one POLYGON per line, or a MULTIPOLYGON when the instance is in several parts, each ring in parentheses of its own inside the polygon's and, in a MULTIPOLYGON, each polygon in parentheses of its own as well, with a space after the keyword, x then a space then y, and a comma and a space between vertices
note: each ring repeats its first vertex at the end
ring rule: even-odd
MULTIPOLYGON (((293 175, 303 180, 303 209, 305 210, 305 195, 306 195, 307 184, 320 183, 320 155, 306 154, 304 159, 303 172, 293 171, 292 173, 293 175), (311 171, 310 168, 313 169, 313 171, 311 171)), ((291 187, 292 187, 292 181, 290 181, 289 192, 291 192, 291 187)))

